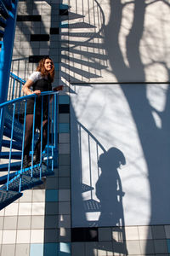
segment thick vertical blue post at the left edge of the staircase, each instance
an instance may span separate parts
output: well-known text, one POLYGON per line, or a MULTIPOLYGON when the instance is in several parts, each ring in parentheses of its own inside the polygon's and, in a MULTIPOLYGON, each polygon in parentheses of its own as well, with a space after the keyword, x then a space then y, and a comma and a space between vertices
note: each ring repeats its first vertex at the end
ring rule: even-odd
MULTIPOLYGON (((8 82, 14 47, 14 32, 17 17, 18 0, 12 3, 12 9, 8 12, 7 26, 3 36, 0 51, 0 103, 6 102, 8 96, 8 82)), ((0 123, 0 150, 3 138, 4 113, 0 123)))

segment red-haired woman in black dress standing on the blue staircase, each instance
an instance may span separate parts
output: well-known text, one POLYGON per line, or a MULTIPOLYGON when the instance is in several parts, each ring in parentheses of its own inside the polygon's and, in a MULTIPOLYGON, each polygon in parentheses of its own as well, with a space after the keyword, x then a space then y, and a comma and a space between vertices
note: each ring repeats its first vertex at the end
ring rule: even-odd
MULTIPOLYGON (((42 115, 42 150, 45 148, 48 139, 48 96, 43 96, 43 113, 42 113, 42 91, 52 90, 52 83, 54 82, 54 62, 45 57, 39 61, 37 71, 32 73, 26 84, 23 86, 23 91, 26 95, 37 94, 36 100, 36 116, 35 129, 41 131, 41 115, 42 115), (30 90, 32 87, 33 90, 30 90)), ((55 87, 53 90, 62 90, 63 86, 55 87)), ((34 97, 27 101, 26 105, 26 133, 24 144, 24 167, 31 165, 31 157, 29 156, 31 149, 32 126, 33 126, 33 109, 34 97)), ((41 150, 41 134, 37 141, 34 150, 34 162, 40 159, 41 150)))

